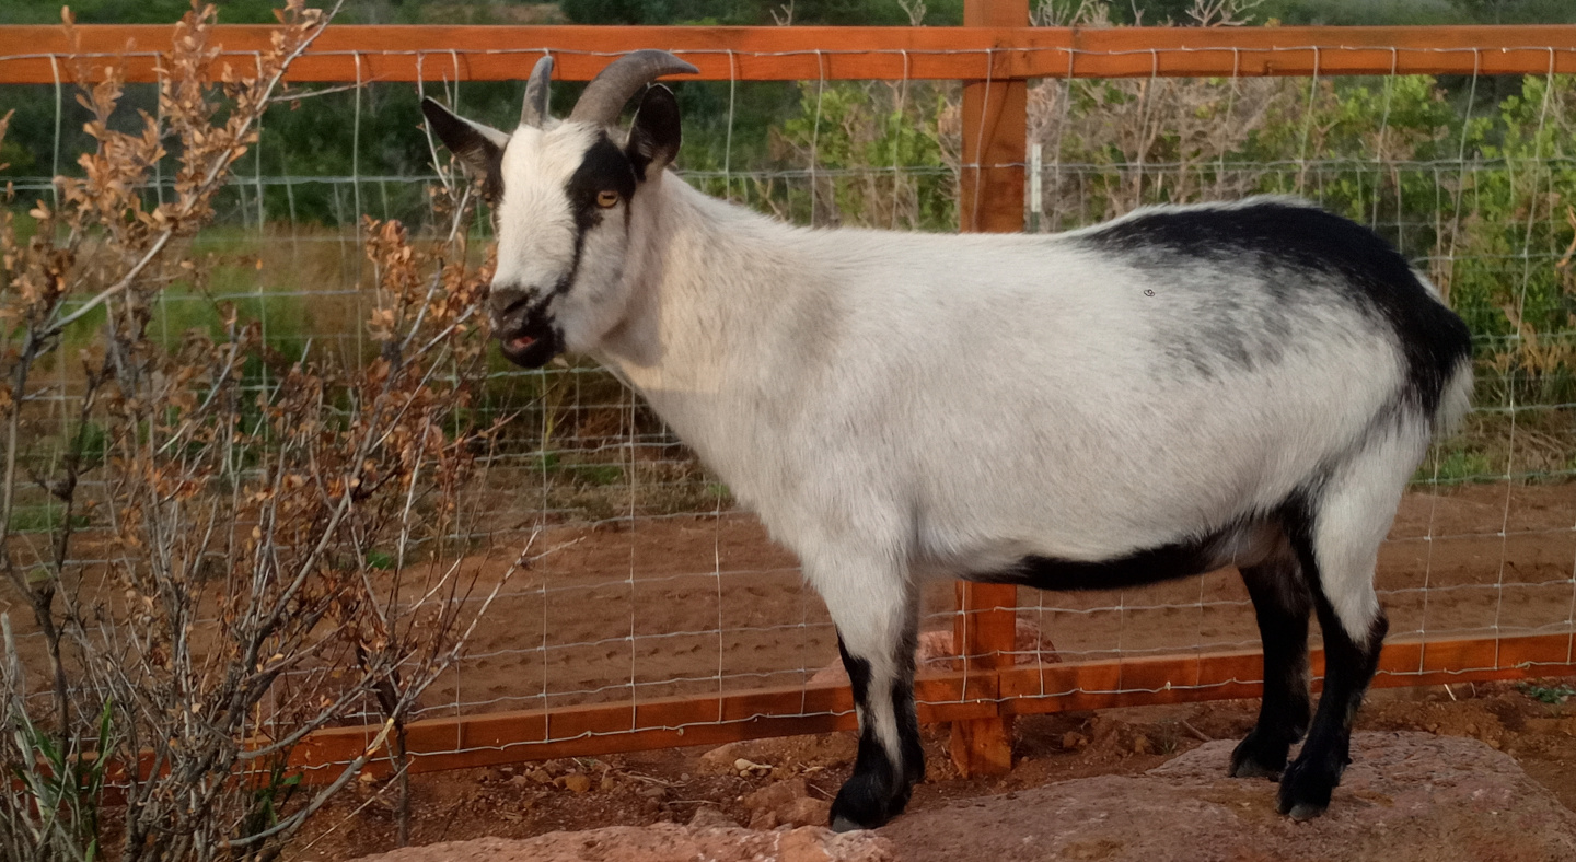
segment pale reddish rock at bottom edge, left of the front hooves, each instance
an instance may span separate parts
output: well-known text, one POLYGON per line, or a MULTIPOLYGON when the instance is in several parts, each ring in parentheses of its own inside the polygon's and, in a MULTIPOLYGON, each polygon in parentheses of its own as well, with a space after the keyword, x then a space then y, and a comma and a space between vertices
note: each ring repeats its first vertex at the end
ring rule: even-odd
POLYGON ((359 862, 897 862, 875 832, 826 827, 756 832, 739 827, 608 826, 534 838, 478 838, 403 848, 359 862))

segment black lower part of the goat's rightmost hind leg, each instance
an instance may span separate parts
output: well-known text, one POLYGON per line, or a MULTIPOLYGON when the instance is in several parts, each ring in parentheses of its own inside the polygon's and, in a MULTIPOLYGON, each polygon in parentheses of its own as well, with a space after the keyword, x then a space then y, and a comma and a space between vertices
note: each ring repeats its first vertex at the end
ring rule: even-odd
POLYGON ((1324 693, 1313 717, 1308 742, 1286 767, 1280 785, 1280 812, 1292 819, 1311 819, 1330 805, 1330 794, 1341 783, 1351 758, 1352 720, 1362 706, 1368 681, 1379 667, 1379 648, 1390 624, 1374 605, 1366 632, 1354 638, 1325 597, 1311 553, 1299 553, 1313 588, 1313 607, 1324 630, 1324 693))

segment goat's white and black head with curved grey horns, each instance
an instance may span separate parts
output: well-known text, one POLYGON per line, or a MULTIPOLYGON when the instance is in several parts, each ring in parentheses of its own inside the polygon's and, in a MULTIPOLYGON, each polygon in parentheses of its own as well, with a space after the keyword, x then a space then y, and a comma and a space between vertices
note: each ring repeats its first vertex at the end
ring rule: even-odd
POLYGON ((663 50, 610 63, 564 121, 547 115, 553 61, 536 63, 512 134, 454 115, 432 99, 427 123, 482 176, 498 224, 493 331, 503 355, 541 367, 564 350, 594 348, 629 303, 624 258, 637 195, 679 151, 679 110, 665 74, 697 72, 663 50), (646 87, 627 134, 618 115, 646 87))

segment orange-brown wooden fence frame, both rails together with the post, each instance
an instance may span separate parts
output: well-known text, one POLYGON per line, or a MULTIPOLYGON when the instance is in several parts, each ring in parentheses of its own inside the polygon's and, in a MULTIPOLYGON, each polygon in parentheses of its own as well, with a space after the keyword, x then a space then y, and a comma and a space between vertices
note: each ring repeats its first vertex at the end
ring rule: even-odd
MULTIPOLYGON (((963 230, 1023 229, 1026 85, 1034 77, 1576 74, 1576 27, 1035 28, 1026 0, 969 0, 968 27, 356 27, 336 25, 292 68, 296 82, 512 80, 552 52, 555 74, 588 80, 611 55, 663 47, 703 80, 953 79, 963 98, 963 230)), ((217 27, 235 63, 266 27, 217 27)), ((66 84, 125 63, 156 80, 170 27, 0 28, 0 84, 66 84)), ((678 77, 682 80, 682 77, 678 77)), ((953 722, 965 771, 1010 766, 1017 714, 1256 697, 1256 652, 1013 667, 1017 589, 958 589, 963 670, 924 678, 920 719, 953 722)), ((1395 643, 1376 686, 1481 681, 1576 668, 1571 635, 1395 643)), ((1314 656, 1314 668, 1321 667, 1314 656)), ((443 717, 410 726, 414 771, 599 755, 854 726, 846 686, 763 689, 643 703, 443 717)), ((356 756, 377 728, 314 734, 295 752, 310 778, 356 756)), ((378 769, 386 769, 380 763, 378 769)))

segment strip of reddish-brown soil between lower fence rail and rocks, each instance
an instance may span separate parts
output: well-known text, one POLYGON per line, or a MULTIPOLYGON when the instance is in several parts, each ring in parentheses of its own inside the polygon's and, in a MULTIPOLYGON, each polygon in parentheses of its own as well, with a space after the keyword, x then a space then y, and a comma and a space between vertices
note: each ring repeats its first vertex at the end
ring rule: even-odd
MULTIPOLYGON (((1576 810, 1576 700, 1549 703, 1573 692, 1576 678, 1387 689, 1371 693, 1357 726, 1483 741, 1576 810)), ((1012 771, 982 778, 960 778, 946 755, 947 728, 927 726, 927 777, 909 812, 1070 778, 1139 775, 1206 741, 1240 738, 1256 711, 1258 701, 1217 701, 1023 717, 1013 728, 1012 771)), ((750 794, 785 778, 802 778, 812 797, 831 799, 851 772, 854 747, 853 734, 840 733, 741 742, 712 756, 708 749, 670 749, 422 774, 411 780, 411 843, 689 823, 701 810, 709 824, 744 826, 753 813, 750 794), (727 769, 738 756, 768 769, 739 775, 727 769)), ((1262 790, 1270 793, 1269 785, 1262 790)), ((392 797, 392 785, 361 783, 309 826, 287 859, 342 860, 394 848, 392 797)), ((987 856, 998 857, 957 862, 987 856)))

